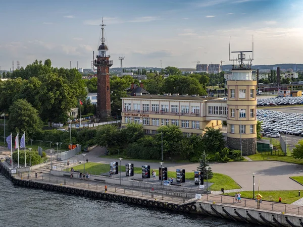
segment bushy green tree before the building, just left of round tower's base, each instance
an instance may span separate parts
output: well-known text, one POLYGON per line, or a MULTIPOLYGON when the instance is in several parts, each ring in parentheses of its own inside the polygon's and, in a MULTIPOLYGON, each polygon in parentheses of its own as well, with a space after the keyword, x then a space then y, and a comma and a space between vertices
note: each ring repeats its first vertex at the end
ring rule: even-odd
POLYGON ((206 133, 202 138, 205 151, 207 153, 221 151, 225 147, 225 140, 221 130, 211 127, 206 127, 205 130, 206 133))

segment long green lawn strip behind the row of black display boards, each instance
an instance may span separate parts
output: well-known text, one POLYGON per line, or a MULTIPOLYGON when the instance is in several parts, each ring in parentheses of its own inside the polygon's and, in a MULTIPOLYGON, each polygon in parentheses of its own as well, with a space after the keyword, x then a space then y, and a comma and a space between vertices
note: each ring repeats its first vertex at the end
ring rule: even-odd
MULTIPOLYGON (((83 172, 83 164, 76 165, 73 167, 75 171, 81 171, 83 172)), ((121 166, 122 172, 125 172, 125 166, 121 166)), ((100 164, 100 163, 94 163, 94 162, 88 162, 85 163, 85 172, 88 172, 90 174, 94 175, 100 175, 103 173, 108 173, 110 171, 110 164, 100 164)), ((119 166, 120 171, 120 166, 119 166)), ((141 174, 141 168, 140 167, 134 167, 134 173, 135 174, 141 174)), ((155 169, 157 176, 159 176, 158 169, 155 169)), ((176 172, 168 171, 168 177, 169 178, 176 178, 176 172)), ((186 173, 185 179, 192 180, 193 181, 194 173, 186 173)), ((209 190, 212 191, 220 191, 221 188, 224 188, 224 190, 230 190, 230 189, 239 189, 240 186, 232 180, 230 177, 224 174, 217 174, 214 173, 214 176, 212 179, 209 180, 210 183, 214 183, 209 190)))

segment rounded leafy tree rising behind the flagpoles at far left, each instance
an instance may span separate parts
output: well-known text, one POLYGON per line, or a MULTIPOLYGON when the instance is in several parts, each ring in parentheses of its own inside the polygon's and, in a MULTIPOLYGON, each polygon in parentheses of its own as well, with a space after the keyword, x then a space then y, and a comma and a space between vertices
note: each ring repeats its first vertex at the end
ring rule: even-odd
POLYGON ((38 111, 24 99, 18 99, 10 107, 8 122, 10 132, 26 132, 28 138, 41 128, 38 111))

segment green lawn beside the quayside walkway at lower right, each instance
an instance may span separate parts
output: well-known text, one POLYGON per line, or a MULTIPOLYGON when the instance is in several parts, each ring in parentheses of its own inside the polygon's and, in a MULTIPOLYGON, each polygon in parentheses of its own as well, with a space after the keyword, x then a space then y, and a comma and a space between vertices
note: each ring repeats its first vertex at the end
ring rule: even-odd
MULTIPOLYGON (((252 191, 243 191, 240 192, 242 198, 252 198, 252 191)), ((255 191, 255 197, 258 194, 258 191, 255 191)), ((282 198, 282 203, 291 204, 294 201, 303 197, 303 193, 298 196, 297 190, 290 191, 261 191, 262 199, 266 201, 279 202, 279 196, 282 198)), ((234 192, 224 193, 224 195, 234 196, 234 192)))

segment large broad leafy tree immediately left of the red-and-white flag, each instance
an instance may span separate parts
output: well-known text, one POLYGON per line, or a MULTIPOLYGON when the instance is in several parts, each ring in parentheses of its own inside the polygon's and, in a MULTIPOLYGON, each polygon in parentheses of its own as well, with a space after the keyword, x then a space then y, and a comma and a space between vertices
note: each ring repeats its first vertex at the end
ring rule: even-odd
POLYGON ((37 95, 40 117, 43 121, 65 122, 77 103, 74 91, 57 73, 41 75, 39 80, 42 82, 37 95))

